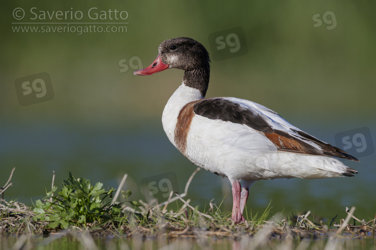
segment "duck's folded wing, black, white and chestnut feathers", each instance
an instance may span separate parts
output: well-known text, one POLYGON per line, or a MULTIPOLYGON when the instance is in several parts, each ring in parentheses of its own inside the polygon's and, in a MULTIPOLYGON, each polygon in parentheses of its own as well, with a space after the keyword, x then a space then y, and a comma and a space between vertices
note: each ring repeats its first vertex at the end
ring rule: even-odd
POLYGON ((197 115, 244 124, 257 130, 272 141, 278 150, 359 161, 338 147, 298 129, 278 113, 257 103, 237 98, 214 97, 195 101, 192 104, 193 111, 197 115))

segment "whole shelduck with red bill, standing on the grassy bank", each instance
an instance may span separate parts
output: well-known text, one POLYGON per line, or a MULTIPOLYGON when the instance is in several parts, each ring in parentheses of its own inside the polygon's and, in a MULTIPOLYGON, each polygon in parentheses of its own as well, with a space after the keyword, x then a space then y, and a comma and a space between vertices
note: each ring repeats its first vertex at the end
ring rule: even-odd
POLYGON ((236 97, 206 98, 210 62, 204 45, 189 37, 177 37, 163 41, 150 66, 133 73, 184 70, 181 84, 163 109, 163 129, 186 158, 230 180, 234 222, 245 221, 249 188, 257 180, 357 173, 337 159, 359 161, 357 158, 293 126, 261 104, 236 97))

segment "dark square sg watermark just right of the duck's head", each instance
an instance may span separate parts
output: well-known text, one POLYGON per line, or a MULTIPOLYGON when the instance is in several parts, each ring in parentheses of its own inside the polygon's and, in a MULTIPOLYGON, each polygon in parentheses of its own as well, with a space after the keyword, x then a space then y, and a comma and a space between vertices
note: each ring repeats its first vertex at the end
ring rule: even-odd
POLYGON ((224 60, 248 52, 246 36, 241 27, 211 33, 209 44, 215 60, 224 60))

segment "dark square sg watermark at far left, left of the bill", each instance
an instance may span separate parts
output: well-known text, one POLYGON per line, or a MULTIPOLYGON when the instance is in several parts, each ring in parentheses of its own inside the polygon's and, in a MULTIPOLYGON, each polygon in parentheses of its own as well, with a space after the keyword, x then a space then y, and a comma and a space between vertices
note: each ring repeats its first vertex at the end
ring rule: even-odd
POLYGON ((33 74, 15 80, 18 102, 27 106, 54 98, 51 77, 47 72, 33 74))

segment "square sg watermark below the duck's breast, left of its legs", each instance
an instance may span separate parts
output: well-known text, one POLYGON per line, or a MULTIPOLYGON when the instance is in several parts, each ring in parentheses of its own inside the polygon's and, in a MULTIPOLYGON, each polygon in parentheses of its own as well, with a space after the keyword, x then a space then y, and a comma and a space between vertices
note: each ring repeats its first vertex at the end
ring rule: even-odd
POLYGON ((167 200, 170 192, 179 192, 174 172, 150 176, 141 180, 142 193, 147 201, 155 198, 158 202, 167 200))

